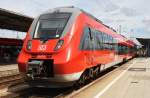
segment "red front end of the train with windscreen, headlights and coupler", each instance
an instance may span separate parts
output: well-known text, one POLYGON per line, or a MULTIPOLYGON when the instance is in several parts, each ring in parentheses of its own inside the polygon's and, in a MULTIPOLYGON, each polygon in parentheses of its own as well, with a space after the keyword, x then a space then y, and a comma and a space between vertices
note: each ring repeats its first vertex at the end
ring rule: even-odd
POLYGON ((32 85, 72 85, 79 78, 81 73, 72 78, 76 73, 71 74, 66 67, 71 58, 67 43, 74 20, 72 14, 56 9, 40 15, 32 23, 18 57, 19 71, 32 85))

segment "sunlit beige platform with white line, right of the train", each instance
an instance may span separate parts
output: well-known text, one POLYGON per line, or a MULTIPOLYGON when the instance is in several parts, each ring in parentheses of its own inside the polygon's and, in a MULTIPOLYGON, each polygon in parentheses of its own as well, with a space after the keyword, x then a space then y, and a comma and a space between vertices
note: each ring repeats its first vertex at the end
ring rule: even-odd
POLYGON ((72 98, 150 98, 150 58, 135 58, 72 98))

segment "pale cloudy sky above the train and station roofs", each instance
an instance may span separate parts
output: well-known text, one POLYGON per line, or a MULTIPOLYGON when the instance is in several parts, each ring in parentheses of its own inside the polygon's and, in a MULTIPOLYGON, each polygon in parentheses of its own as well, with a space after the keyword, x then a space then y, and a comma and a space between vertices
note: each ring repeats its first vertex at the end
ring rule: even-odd
POLYGON ((55 7, 75 6, 128 38, 150 38, 149 4, 150 0, 3 0, 0 8, 36 17, 55 7))

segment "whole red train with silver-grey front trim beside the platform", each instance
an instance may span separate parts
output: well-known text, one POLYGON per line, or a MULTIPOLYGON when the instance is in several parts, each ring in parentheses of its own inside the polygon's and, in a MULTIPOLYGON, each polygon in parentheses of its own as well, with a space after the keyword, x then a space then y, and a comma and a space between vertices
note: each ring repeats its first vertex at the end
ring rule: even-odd
POLYGON ((134 49, 135 43, 92 15, 60 7, 33 21, 18 66, 32 84, 69 86, 132 58, 134 49))

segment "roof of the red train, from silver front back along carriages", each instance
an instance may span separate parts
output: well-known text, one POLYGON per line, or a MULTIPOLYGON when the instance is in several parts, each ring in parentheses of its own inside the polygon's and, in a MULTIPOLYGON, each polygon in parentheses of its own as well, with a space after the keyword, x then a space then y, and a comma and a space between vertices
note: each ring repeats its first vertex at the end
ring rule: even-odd
POLYGON ((87 16, 91 17, 92 19, 94 19, 98 23, 102 24, 105 28, 107 28, 108 29, 107 31, 109 32, 108 34, 110 34, 115 39, 117 39, 119 41, 119 43, 126 44, 128 46, 134 46, 134 43, 131 43, 126 37, 124 37, 124 36, 122 36, 120 34, 117 34, 116 30, 114 30, 112 27, 107 26, 101 20, 97 19, 93 15, 91 15, 91 14, 87 13, 86 11, 84 11, 82 9, 79 9, 77 7, 74 7, 74 6, 58 7, 58 8, 54 8, 54 9, 46 11, 44 14, 47 14, 47 13, 57 13, 57 12, 71 12, 71 13, 74 14, 74 17, 83 12, 87 16))

